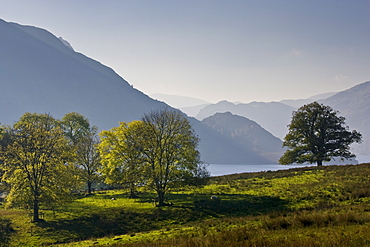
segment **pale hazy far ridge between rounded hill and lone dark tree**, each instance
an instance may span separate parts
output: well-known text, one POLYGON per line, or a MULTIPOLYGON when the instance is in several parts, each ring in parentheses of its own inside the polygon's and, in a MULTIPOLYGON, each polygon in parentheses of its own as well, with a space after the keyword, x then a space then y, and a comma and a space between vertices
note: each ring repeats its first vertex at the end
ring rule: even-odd
POLYGON ((215 113, 231 112, 257 122, 274 136, 282 139, 288 132, 287 125, 290 123, 294 110, 296 108, 279 102, 234 104, 228 101, 220 101, 204 107, 196 115, 196 118, 202 120, 215 113))

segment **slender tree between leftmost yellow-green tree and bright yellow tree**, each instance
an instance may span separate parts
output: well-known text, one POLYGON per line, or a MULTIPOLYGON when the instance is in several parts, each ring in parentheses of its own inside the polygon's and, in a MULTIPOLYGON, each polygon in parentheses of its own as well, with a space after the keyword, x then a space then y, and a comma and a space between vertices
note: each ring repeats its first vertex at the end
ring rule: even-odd
POLYGON ((101 166, 97 151, 97 127, 91 127, 89 120, 76 112, 64 115, 62 125, 79 177, 86 183, 88 194, 91 194, 93 183, 99 181, 98 169, 101 166))

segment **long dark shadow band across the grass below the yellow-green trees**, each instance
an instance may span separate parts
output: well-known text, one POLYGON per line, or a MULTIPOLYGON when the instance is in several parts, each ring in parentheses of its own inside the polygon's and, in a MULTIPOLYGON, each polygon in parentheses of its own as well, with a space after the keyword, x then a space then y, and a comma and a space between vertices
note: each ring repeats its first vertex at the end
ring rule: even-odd
MULTIPOLYGON (((152 195, 143 197, 143 203, 152 195)), ((57 242, 69 242, 121 234, 135 234, 223 216, 260 215, 285 209, 283 200, 250 195, 221 195, 212 201, 205 195, 172 194, 173 206, 133 212, 122 208, 90 208, 84 216, 40 222, 38 225, 57 242)))

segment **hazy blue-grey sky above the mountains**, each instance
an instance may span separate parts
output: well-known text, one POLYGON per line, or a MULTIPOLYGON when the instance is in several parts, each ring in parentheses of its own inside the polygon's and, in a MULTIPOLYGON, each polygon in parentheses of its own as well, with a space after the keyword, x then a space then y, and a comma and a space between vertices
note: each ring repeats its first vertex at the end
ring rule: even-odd
POLYGON ((370 80, 370 0, 0 0, 0 18, 62 36, 146 94, 247 103, 370 80))

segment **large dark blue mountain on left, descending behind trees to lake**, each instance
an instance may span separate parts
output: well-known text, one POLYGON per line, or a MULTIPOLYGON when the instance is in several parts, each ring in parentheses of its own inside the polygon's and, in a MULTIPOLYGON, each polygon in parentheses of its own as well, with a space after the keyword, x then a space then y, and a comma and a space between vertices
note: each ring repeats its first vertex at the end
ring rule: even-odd
MULTIPOLYGON (((164 107, 129 85, 111 68, 73 50, 50 32, 0 19, 0 122, 13 124, 25 112, 61 118, 78 112, 99 130, 132 121, 164 107)), ((206 163, 263 163, 235 141, 189 118, 206 163)))

